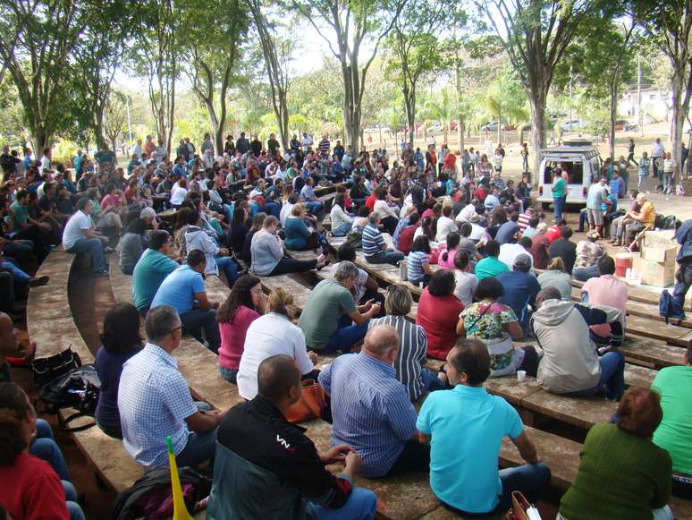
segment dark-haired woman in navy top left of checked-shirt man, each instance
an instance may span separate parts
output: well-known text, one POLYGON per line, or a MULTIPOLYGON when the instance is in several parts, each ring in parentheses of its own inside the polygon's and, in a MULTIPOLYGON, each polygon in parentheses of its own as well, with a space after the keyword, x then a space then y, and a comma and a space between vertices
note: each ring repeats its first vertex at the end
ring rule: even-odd
POLYGON ((115 303, 106 313, 101 334, 101 347, 96 356, 98 393, 96 417, 98 427, 106 435, 122 439, 118 387, 122 365, 142 349, 139 336, 139 312, 131 303, 115 303))

